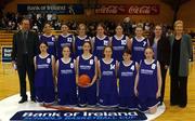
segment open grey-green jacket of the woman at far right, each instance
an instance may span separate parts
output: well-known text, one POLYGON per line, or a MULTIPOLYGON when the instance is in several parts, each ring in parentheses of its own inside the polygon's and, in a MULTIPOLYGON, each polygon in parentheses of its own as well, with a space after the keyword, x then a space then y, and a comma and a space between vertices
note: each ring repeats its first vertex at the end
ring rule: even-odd
MULTIPOLYGON (((171 53, 170 53, 170 75, 172 75, 172 65, 171 65, 171 56, 172 54, 172 46, 173 46, 173 41, 174 41, 174 36, 170 36, 170 48, 171 48, 171 53)), ((182 40, 181 40, 181 45, 180 45, 180 62, 179 62, 179 76, 180 77, 187 77, 188 76, 188 59, 192 56, 192 40, 188 35, 183 35, 182 40)))

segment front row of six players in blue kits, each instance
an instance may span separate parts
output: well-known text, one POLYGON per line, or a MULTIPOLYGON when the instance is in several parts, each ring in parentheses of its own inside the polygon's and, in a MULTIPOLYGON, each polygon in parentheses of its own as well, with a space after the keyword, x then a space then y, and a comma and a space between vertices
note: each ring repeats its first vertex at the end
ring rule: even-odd
POLYGON ((143 52, 145 59, 140 66, 131 60, 131 52, 125 50, 122 62, 112 58, 112 46, 104 48, 100 60, 90 53, 90 42, 82 45, 83 53, 76 60, 70 57, 68 46, 63 48, 63 57, 56 60, 48 54, 48 43, 41 42, 40 54, 34 59, 36 67, 35 94, 37 102, 55 100, 54 80, 60 105, 101 106, 139 108, 154 113, 160 96, 161 77, 159 63, 153 59, 152 48, 143 52), (140 69, 139 69, 140 67, 140 69), (79 83, 78 78, 88 75, 91 82, 79 83), (117 86, 117 78, 119 86, 117 86), (78 89, 77 89, 78 88, 78 89), (78 93, 77 93, 78 91, 78 93))

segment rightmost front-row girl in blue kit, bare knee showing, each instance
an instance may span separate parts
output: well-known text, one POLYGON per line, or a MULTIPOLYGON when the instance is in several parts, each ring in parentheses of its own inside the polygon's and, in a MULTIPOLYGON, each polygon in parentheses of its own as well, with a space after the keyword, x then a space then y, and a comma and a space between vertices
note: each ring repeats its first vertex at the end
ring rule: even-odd
POLYGON ((139 99, 139 109, 155 113, 161 90, 160 66, 157 60, 153 59, 152 48, 146 48, 144 54, 145 59, 141 60, 135 78, 134 93, 139 99))

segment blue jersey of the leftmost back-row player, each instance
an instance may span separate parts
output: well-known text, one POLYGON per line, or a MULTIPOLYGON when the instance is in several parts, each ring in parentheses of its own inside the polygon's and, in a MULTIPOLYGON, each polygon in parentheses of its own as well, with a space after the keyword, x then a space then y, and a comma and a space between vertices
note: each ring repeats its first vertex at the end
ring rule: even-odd
POLYGON ((52 54, 56 57, 56 46, 55 46, 55 37, 52 36, 46 36, 46 35, 41 35, 39 37, 40 41, 46 41, 48 43, 48 53, 52 54))

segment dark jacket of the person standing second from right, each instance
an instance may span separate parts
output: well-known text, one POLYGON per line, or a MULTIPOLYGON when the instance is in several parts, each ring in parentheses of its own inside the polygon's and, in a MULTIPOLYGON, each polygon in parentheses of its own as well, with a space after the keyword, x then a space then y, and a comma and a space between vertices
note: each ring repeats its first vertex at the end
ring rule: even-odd
MULTIPOLYGON (((151 46, 153 43, 154 37, 150 38, 151 46)), ((162 65, 169 65, 170 62, 170 42, 165 36, 161 36, 157 43, 157 60, 162 65)))

